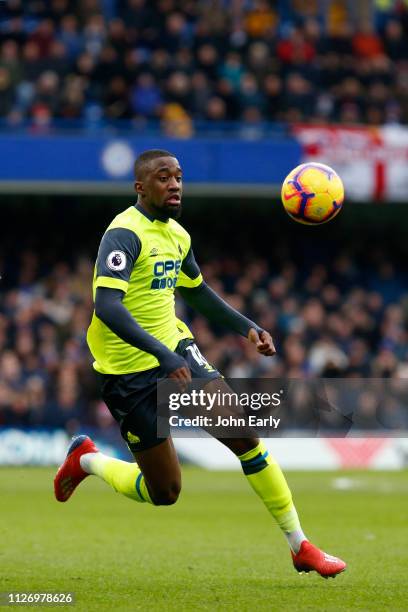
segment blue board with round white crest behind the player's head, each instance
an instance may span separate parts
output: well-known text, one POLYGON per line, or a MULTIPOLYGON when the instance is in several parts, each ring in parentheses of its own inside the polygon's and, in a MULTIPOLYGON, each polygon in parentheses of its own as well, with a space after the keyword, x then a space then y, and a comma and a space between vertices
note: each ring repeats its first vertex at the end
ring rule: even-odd
POLYGON ((0 183, 131 182, 135 157, 163 148, 179 157, 188 183, 279 185, 300 163, 290 138, 122 137, 106 134, 0 134, 0 183))

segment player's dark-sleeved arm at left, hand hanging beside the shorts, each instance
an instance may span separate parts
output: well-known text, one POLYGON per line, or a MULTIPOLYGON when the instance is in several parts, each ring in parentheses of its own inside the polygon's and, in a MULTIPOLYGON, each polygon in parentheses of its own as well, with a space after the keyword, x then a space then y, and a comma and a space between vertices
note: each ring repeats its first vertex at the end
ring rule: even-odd
POLYGON ((124 293, 120 289, 98 287, 95 314, 119 338, 136 348, 154 355, 170 378, 190 382, 191 374, 186 361, 145 331, 122 304, 124 293))

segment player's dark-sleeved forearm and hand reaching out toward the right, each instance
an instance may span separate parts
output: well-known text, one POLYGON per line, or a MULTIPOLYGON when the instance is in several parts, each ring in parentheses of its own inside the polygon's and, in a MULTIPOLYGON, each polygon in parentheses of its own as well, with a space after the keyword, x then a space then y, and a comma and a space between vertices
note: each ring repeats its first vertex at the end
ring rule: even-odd
POLYGON ((207 283, 202 282, 195 288, 178 287, 178 290, 189 306, 207 317, 212 323, 245 336, 255 344, 258 352, 262 355, 275 354, 276 351, 270 334, 227 304, 207 283))

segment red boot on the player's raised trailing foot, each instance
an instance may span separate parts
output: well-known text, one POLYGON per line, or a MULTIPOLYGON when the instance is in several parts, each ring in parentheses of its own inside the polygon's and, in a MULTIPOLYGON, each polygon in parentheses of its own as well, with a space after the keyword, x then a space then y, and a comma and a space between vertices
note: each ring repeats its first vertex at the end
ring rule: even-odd
POLYGON ((81 468, 80 458, 85 453, 97 453, 98 449, 88 436, 78 436, 71 442, 64 463, 54 478, 54 492, 58 501, 67 501, 77 486, 89 476, 81 468))

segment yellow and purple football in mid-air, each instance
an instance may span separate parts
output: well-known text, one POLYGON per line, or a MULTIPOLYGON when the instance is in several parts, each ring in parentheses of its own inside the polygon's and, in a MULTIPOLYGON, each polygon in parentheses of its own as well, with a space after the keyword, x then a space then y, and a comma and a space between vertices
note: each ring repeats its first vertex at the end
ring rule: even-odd
POLYGON ((297 166, 282 185, 282 202, 292 219, 319 225, 333 219, 343 206, 344 187, 329 166, 310 162, 297 166))

